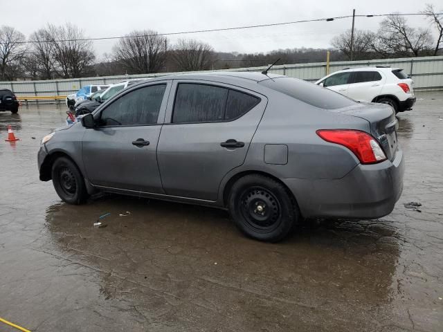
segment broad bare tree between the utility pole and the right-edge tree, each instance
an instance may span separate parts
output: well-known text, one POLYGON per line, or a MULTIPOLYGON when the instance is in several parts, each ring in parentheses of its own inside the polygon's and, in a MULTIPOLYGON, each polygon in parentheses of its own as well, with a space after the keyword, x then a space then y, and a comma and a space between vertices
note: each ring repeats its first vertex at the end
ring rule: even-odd
POLYGON ((431 49, 429 30, 411 28, 399 15, 391 15, 381 21, 377 39, 372 45, 377 53, 418 57, 431 49))

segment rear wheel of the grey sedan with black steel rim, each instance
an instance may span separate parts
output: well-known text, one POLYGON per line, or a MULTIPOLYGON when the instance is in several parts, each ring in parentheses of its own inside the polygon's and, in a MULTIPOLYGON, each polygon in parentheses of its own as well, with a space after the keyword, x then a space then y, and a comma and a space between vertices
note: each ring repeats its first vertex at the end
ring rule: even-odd
POLYGON ((262 174, 239 178, 230 190, 228 208, 239 230, 266 242, 284 239, 300 218, 287 188, 262 174))

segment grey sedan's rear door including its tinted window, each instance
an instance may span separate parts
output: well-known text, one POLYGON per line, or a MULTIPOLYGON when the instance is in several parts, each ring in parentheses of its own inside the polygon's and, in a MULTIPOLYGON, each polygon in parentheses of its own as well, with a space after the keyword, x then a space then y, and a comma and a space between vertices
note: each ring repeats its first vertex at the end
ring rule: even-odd
POLYGON ((267 99, 197 80, 174 80, 172 91, 157 149, 163 189, 215 201, 222 178, 244 163, 267 99))

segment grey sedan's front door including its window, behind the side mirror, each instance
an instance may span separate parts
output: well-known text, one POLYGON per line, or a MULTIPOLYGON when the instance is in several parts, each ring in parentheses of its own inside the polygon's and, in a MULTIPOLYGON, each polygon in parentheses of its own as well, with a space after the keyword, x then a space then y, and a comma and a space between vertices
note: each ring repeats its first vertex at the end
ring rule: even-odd
POLYGON ((169 88, 166 82, 136 87, 94 114, 98 127, 86 129, 82 140, 84 167, 93 185, 161 192, 156 148, 169 88))

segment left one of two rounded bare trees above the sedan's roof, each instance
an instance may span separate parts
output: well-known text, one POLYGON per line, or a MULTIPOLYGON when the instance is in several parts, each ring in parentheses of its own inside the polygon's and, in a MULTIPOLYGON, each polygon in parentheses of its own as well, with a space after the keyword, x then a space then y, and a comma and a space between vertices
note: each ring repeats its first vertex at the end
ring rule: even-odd
POLYGON ((129 73, 157 73, 165 66, 167 42, 156 31, 134 30, 120 39, 112 52, 129 73))

